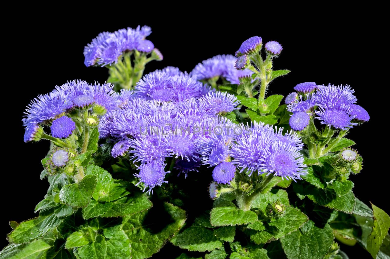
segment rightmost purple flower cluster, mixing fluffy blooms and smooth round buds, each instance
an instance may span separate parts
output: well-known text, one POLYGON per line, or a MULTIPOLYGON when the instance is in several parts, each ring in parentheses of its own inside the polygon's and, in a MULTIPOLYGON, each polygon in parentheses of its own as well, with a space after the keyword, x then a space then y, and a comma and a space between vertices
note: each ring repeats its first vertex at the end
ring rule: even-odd
POLYGON ((368 112, 355 104, 355 91, 350 86, 319 86, 315 82, 305 82, 294 89, 303 94, 297 99, 298 94, 291 93, 285 100, 287 110, 293 112, 289 124, 294 130, 306 128, 314 115, 321 124, 342 130, 370 119, 368 112))

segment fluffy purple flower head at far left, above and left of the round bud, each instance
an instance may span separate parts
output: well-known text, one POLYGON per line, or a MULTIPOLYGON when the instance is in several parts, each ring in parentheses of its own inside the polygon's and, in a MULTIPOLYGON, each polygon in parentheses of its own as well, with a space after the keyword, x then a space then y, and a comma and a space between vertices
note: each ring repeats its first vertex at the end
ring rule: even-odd
POLYGON ((23 124, 48 122, 73 106, 72 101, 61 92, 39 95, 27 106, 23 124))

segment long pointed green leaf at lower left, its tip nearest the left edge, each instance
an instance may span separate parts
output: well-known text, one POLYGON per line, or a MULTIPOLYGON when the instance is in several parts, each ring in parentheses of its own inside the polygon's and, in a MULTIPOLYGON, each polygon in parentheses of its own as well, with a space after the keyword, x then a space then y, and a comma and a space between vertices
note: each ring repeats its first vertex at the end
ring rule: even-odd
POLYGON ((62 219, 58 219, 55 214, 40 215, 35 219, 21 222, 7 235, 7 240, 10 243, 27 243, 53 230, 61 222, 62 219))

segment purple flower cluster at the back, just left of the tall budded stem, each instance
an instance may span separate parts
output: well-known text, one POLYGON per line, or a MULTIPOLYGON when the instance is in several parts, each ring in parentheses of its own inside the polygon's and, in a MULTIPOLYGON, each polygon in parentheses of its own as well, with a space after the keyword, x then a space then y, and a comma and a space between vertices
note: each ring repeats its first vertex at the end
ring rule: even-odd
MULTIPOLYGON (((190 75, 196 80, 218 79, 219 77, 223 77, 231 84, 239 84, 239 77, 250 76, 253 72, 249 69, 236 70, 236 60, 237 58, 233 55, 214 56, 196 65, 190 75)), ((241 62, 242 64, 239 63, 238 68, 244 68, 245 62, 241 62)))

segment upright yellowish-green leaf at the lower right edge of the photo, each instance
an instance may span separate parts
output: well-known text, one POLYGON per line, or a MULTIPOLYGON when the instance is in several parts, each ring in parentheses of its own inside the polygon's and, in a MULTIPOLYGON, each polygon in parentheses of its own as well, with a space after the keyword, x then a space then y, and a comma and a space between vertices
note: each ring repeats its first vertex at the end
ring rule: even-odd
POLYGON ((370 252, 372 258, 376 258, 379 248, 389 231, 390 217, 381 208, 376 207, 372 203, 371 206, 374 212, 374 226, 367 238, 367 251, 370 252))

